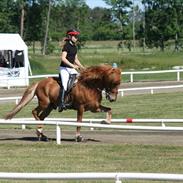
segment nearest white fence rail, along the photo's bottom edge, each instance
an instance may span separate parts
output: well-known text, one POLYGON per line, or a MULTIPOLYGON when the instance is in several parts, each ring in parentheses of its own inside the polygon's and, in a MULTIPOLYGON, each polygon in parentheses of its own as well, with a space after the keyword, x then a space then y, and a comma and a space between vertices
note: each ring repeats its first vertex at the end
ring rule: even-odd
POLYGON ((152 180, 152 181, 182 181, 183 174, 165 173, 7 173, 0 172, 0 179, 12 180, 152 180))

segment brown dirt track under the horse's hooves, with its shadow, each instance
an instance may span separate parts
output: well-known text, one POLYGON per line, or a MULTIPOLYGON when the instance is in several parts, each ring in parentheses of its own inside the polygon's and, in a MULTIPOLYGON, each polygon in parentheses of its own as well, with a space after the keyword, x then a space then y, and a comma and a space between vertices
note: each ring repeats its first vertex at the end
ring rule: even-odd
MULTIPOLYGON (((46 131, 49 142, 39 142, 35 130, 9 129, 0 130, 0 144, 2 143, 56 143, 55 131, 46 131)), ((144 144, 144 145, 174 145, 183 146, 182 132, 165 131, 82 131, 85 141, 82 143, 107 143, 107 144, 144 144)), ((72 144, 75 142, 74 131, 62 131, 62 144, 72 144)))

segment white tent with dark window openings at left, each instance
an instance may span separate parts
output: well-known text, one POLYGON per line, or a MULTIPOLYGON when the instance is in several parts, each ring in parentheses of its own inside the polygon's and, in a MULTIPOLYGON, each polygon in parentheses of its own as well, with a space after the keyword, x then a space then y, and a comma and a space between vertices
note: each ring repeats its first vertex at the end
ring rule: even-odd
POLYGON ((19 34, 0 33, 0 87, 29 85, 28 47, 19 34))

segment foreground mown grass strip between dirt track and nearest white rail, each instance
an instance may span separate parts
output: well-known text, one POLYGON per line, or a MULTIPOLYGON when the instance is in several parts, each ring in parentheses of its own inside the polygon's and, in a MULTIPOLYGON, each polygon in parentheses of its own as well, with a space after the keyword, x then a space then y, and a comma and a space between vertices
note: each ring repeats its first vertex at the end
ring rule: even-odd
MULTIPOLYGON (((85 143, 60 146, 54 143, 35 143, 22 146, 21 143, 8 143, 0 145, 0 149, 0 172, 182 173, 183 171, 183 147, 178 146, 85 143)), ((87 182, 112 183, 114 180, 87 182)))

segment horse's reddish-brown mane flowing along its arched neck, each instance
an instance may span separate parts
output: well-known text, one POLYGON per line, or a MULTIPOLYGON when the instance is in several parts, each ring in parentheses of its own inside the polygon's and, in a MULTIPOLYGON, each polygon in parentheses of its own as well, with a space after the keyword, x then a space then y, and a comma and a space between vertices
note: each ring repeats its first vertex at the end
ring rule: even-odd
POLYGON ((88 67, 80 73, 78 81, 84 83, 92 80, 101 79, 103 73, 110 69, 112 69, 112 66, 106 64, 88 67))

